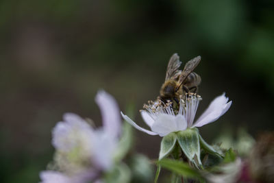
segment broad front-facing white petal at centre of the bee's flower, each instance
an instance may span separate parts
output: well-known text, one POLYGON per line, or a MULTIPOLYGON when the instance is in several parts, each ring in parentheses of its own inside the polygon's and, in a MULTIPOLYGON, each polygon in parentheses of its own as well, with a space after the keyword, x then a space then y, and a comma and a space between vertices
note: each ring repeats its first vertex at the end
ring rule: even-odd
POLYGON ((171 132, 186 130, 187 122, 182 115, 176 117, 169 114, 160 114, 151 126, 153 132, 158 133, 160 136, 166 136, 171 132))

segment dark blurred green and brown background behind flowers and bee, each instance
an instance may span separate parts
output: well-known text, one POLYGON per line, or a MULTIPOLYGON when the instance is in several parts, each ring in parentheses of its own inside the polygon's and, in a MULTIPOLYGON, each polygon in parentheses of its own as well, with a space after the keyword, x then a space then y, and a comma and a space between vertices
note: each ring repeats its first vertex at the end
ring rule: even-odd
MULTIPOLYGON (((208 142, 273 130, 273 10, 271 0, 0 1, 0 182, 38 182, 64 112, 100 125, 100 88, 145 126, 138 110, 158 96, 173 53, 202 57, 199 114, 223 92, 233 101, 200 128, 208 142)), ((136 151, 157 158, 160 137, 135 134, 136 151)))

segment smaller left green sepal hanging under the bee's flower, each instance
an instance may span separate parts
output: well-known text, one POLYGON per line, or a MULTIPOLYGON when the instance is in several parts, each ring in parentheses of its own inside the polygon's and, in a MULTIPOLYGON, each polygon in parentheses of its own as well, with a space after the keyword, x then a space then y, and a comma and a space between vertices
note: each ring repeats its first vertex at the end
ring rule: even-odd
POLYGON ((167 136, 164 136, 164 138, 162 138, 159 160, 168 156, 171 153, 171 151, 175 147, 176 141, 177 136, 175 133, 170 133, 167 136))

